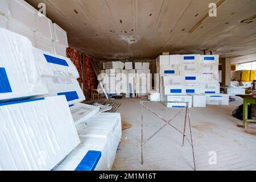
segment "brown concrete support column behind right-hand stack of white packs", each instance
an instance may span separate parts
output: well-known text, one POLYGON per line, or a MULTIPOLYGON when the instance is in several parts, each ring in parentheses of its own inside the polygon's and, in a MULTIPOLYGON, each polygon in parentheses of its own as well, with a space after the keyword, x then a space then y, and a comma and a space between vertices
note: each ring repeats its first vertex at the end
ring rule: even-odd
POLYGON ((221 68, 222 68, 222 86, 230 86, 231 79, 231 65, 229 57, 221 59, 221 68))

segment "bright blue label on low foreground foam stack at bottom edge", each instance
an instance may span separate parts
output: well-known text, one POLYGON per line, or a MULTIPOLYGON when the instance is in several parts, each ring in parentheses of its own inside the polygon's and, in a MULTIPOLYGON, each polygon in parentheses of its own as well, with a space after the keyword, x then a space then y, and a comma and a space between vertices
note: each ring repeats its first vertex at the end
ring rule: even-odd
POLYGON ((94 171, 101 158, 101 151, 88 151, 75 171, 94 171))

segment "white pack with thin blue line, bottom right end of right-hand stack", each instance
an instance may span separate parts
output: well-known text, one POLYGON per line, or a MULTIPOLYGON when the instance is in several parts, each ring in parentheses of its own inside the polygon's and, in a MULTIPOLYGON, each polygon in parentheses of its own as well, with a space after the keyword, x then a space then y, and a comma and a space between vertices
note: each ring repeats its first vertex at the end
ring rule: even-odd
POLYGON ((207 105, 229 105, 228 94, 205 94, 207 105))

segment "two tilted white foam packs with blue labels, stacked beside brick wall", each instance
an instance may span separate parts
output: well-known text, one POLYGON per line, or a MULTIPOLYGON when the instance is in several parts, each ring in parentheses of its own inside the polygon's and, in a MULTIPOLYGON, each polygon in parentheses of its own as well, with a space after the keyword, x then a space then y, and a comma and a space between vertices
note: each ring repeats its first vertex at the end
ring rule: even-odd
POLYGON ((65 95, 69 105, 85 100, 77 81, 79 73, 70 59, 37 48, 33 52, 42 80, 49 91, 46 96, 65 95))

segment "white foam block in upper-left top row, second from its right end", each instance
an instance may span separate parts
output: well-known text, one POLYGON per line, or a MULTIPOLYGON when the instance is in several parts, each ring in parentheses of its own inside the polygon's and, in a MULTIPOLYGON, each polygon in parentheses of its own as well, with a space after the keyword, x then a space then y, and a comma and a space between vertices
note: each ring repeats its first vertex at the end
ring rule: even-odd
POLYGON ((35 14, 36 32, 47 39, 54 40, 52 20, 41 13, 35 14))

